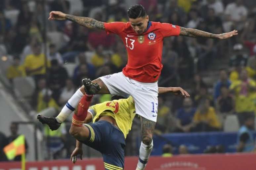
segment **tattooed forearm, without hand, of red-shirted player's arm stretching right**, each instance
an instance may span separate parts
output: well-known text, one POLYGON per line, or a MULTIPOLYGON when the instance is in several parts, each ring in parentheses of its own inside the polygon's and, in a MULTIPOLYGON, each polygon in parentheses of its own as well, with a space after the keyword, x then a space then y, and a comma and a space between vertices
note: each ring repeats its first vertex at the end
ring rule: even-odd
POLYGON ((212 34, 205 31, 192 29, 192 28, 184 28, 184 27, 181 27, 180 35, 187 36, 187 37, 205 37, 205 38, 214 38, 214 39, 218 38, 217 34, 212 34))

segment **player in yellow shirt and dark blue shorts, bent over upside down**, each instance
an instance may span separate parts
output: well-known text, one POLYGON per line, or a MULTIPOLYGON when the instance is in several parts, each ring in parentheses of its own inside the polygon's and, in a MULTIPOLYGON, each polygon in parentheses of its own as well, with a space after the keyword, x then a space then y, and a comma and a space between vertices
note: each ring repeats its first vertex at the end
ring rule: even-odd
MULTIPOLYGON (((184 92, 185 96, 189 97, 182 88, 159 88, 158 93, 167 92, 184 92)), ((73 163, 77 155, 82 159, 82 143, 84 143, 102 153, 105 169, 124 168, 125 138, 131 130, 136 114, 135 104, 131 96, 127 99, 122 99, 120 96, 113 97, 112 101, 91 107, 89 105, 92 95, 85 94, 80 100, 69 129, 69 133, 77 139, 76 148, 71 154, 73 163), (87 114, 87 111, 90 114, 87 114), (84 124, 89 122, 93 123, 84 124)))

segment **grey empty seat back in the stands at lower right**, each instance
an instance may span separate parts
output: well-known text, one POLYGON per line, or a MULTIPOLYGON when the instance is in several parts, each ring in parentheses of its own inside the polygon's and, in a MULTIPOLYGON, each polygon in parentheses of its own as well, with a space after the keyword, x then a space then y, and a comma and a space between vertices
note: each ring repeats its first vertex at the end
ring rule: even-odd
POLYGON ((224 121, 224 131, 225 132, 234 132, 238 131, 239 122, 236 115, 228 115, 224 121))

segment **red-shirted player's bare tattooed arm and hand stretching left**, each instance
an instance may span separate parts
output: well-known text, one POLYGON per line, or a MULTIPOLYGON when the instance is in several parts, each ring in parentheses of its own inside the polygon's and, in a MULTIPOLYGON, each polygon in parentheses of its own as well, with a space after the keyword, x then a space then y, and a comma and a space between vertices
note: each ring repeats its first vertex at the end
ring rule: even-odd
POLYGON ((70 20, 72 22, 78 23, 79 25, 82 25, 84 27, 90 28, 90 29, 105 29, 104 22, 97 21, 93 18, 88 17, 81 17, 81 16, 74 16, 69 14, 64 14, 60 11, 52 11, 50 12, 50 16, 48 18, 49 20, 70 20))

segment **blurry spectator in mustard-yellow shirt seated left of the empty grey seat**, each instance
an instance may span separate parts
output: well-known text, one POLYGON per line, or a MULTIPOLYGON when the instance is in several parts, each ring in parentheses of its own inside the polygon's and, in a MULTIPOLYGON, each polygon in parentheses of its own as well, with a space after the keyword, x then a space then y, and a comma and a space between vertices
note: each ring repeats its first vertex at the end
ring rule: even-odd
POLYGON ((198 109, 193 117, 193 131, 217 131, 221 124, 215 113, 215 109, 210 106, 209 99, 201 100, 198 109))

